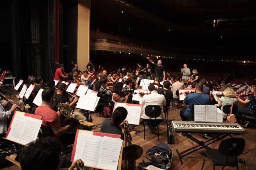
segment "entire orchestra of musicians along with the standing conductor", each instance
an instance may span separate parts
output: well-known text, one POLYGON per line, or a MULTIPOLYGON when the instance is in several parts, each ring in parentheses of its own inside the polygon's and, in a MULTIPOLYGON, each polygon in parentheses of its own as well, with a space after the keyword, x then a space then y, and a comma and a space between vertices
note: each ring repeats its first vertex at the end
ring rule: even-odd
MULTIPOLYGON (((43 88, 42 92, 42 105, 38 106, 34 113, 30 108, 29 111, 33 114, 42 116, 42 125, 50 129, 52 137, 60 141, 64 147, 72 144, 75 138, 75 133, 70 133, 69 130, 75 126, 74 122, 68 125, 62 126, 63 116, 58 109, 58 103, 65 103, 69 107, 74 107, 78 101, 75 96, 68 95, 66 92, 67 85, 62 83, 75 82, 77 88, 79 85, 87 85, 89 89, 98 91, 98 97, 100 97, 99 103, 102 106, 108 101, 120 102, 120 103, 133 103, 139 104, 138 101, 133 101, 132 96, 134 90, 139 89, 139 84, 145 79, 153 79, 154 83, 147 85, 148 94, 139 94, 141 97, 142 120, 150 119, 145 114, 146 106, 157 105, 161 109, 161 114, 153 121, 154 123, 148 124, 152 133, 156 133, 156 127, 166 117, 166 112, 170 107, 179 101, 179 89, 190 88, 195 89, 194 93, 186 94, 183 104, 187 105, 186 109, 180 111, 180 117, 182 121, 194 121, 192 114, 193 105, 208 105, 219 104, 220 109, 223 109, 225 104, 238 104, 238 101, 247 104, 238 109, 237 121, 244 121, 243 115, 256 115, 256 86, 252 85, 251 94, 246 99, 241 99, 240 96, 236 96, 232 87, 229 87, 226 80, 221 81, 219 86, 220 91, 224 91, 224 96, 218 97, 217 101, 210 96, 210 89, 207 87, 207 81, 201 79, 196 69, 192 70, 192 74, 187 64, 184 64, 181 68, 180 76, 172 78, 165 69, 161 60, 155 63, 149 57, 146 58, 149 63, 145 68, 142 64, 137 63, 136 69, 131 72, 127 70, 125 66, 121 67, 117 71, 112 71, 108 74, 107 70, 104 70, 101 66, 95 71, 92 61, 90 61, 84 71, 78 69, 78 65, 74 64, 70 73, 65 73, 64 65, 59 64, 55 71, 54 80, 59 81, 55 86, 55 81, 48 80, 47 84, 43 83, 41 76, 29 76, 27 86, 33 85, 34 90, 30 97, 24 101, 25 105, 34 106, 33 99, 37 95, 38 91, 43 88), (152 64, 153 66, 151 66, 152 64), (153 72, 154 68, 154 72, 153 72), (168 76, 167 76, 168 74, 168 76), (139 78, 138 81, 136 81, 139 78), (175 80, 175 81, 174 81, 175 80), (71 97, 72 96, 72 97, 71 97)), ((77 89, 76 88, 76 89, 77 89)), ((4 134, 7 131, 7 119, 17 108, 16 104, 9 105, 10 102, 0 98, 0 133, 4 134)), ((75 119, 87 120, 87 117, 82 112, 75 111, 75 119)), ((120 124, 125 120, 127 111, 123 108, 116 109, 113 113, 111 120, 105 120, 102 124, 101 132, 122 134, 120 124)), ((136 130, 136 126, 133 126, 136 130)), ((123 135, 122 135, 123 138, 123 135)), ((81 162, 80 162, 81 163, 81 162)))

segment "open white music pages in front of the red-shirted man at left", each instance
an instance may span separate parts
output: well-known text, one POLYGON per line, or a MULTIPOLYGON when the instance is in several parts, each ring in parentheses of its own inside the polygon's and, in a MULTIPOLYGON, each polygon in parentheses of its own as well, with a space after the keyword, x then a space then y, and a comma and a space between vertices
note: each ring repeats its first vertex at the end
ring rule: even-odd
POLYGON ((15 114, 7 139, 26 145, 36 140, 42 120, 15 114))

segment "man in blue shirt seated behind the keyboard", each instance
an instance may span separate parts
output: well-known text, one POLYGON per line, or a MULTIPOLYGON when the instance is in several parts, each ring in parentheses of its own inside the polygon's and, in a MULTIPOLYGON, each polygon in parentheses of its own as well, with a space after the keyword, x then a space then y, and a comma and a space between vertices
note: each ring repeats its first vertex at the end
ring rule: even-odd
POLYGON ((187 109, 183 109, 180 111, 180 117, 182 121, 194 121, 194 115, 192 114, 192 106, 193 105, 209 105, 210 98, 208 95, 203 93, 203 84, 198 83, 196 85, 196 92, 190 93, 188 95, 185 94, 184 104, 188 105, 187 109))

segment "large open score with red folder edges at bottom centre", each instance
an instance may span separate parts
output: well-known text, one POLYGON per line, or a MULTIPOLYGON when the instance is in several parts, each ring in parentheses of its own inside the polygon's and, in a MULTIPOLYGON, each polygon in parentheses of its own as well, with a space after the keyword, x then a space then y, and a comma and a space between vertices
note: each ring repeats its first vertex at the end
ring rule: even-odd
POLYGON ((122 144, 120 135, 77 130, 71 161, 82 159, 86 167, 116 170, 122 144))

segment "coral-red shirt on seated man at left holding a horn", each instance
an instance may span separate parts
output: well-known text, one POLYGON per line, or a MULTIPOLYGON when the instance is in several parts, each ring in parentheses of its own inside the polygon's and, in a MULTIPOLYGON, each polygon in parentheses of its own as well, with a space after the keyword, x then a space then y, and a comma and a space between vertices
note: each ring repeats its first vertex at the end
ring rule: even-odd
POLYGON ((42 116, 42 125, 46 127, 60 127, 61 122, 57 112, 49 106, 39 106, 35 111, 35 115, 42 116))

